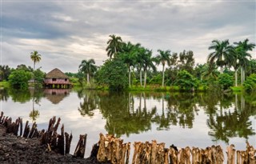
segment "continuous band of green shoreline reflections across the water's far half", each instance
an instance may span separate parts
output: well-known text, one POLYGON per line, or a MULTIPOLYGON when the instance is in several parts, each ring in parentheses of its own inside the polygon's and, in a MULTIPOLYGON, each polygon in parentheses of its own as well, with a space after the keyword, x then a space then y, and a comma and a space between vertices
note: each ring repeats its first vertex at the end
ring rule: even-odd
MULTIPOLYGON (((102 119, 106 120, 105 130, 117 137, 126 135, 128 138, 131 134, 149 133, 154 130, 169 131, 174 127, 198 130, 200 127, 195 123, 198 121, 203 121, 207 128, 205 131, 213 142, 222 141, 229 144, 230 138, 247 140, 255 136, 252 122, 256 116, 254 94, 117 94, 95 90, 75 92, 78 97, 75 110, 78 114, 82 118, 93 119, 99 111, 102 119), (202 120, 198 120, 199 118, 202 120)), ((70 90, 0 90, 2 102, 10 99, 11 103, 32 101, 32 110, 28 113, 33 122, 39 119, 38 106, 44 106, 43 99, 62 106, 64 98, 74 102, 69 96, 70 90)))

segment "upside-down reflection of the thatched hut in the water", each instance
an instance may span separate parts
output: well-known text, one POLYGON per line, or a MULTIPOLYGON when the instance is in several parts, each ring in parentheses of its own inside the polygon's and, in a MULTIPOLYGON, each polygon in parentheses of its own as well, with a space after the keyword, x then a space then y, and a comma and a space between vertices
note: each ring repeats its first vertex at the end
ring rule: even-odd
POLYGON ((63 98, 70 94, 70 89, 46 89, 43 90, 43 93, 50 102, 58 104, 63 98))

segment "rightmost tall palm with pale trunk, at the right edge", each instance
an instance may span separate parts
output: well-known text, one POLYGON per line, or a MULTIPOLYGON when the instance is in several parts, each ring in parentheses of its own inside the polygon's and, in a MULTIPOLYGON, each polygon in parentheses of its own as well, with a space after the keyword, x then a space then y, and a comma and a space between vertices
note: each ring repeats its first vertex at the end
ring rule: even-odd
POLYGON ((251 51, 254 49, 255 44, 249 43, 249 39, 246 38, 243 42, 234 42, 234 45, 236 46, 236 50, 238 52, 238 60, 239 65, 241 66, 241 84, 245 81, 245 69, 246 66, 249 63, 249 59, 251 58, 251 55, 248 53, 248 51, 251 51))

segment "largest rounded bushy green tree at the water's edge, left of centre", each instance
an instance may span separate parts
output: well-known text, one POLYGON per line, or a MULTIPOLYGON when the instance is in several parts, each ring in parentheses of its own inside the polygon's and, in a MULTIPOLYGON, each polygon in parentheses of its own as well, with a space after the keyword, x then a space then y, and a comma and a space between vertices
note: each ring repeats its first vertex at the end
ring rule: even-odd
POLYGON ((128 86, 127 70, 122 60, 118 58, 107 60, 97 71, 95 80, 99 84, 109 86, 110 90, 125 90, 128 86))

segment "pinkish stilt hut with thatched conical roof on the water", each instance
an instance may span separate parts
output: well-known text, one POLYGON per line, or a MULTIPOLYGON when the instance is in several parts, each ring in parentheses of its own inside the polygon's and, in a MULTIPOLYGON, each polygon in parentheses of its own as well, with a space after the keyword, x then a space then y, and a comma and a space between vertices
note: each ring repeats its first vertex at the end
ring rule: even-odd
POLYGON ((66 74, 64 74, 61 70, 58 70, 58 68, 55 68, 46 74, 44 85, 46 88, 59 89, 70 88, 71 83, 66 74))

